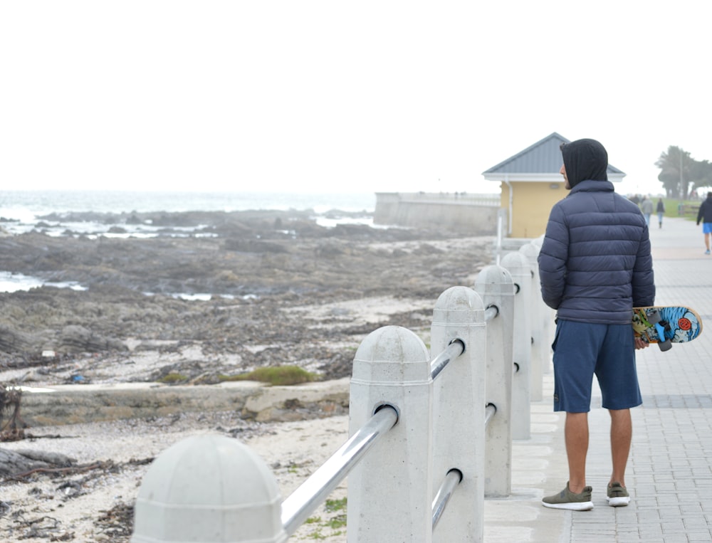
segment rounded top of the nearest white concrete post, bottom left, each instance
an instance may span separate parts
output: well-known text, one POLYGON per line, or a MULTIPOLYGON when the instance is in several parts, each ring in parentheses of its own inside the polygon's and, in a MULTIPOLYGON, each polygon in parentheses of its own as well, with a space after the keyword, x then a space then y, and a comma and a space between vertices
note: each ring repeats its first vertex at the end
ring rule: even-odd
POLYGON ((282 543, 281 497, 261 458, 204 434, 164 450, 146 472, 131 543, 282 543))

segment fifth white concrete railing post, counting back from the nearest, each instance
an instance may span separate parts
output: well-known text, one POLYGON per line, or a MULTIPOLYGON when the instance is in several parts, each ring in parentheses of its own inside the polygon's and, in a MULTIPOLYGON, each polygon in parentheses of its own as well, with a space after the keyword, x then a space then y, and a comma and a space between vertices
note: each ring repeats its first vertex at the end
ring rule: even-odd
POLYGON ((512 438, 529 439, 531 436, 531 320, 530 300, 532 273, 526 257, 519 252, 507 253, 502 258, 514 281, 514 333, 513 359, 515 374, 512 377, 512 438))

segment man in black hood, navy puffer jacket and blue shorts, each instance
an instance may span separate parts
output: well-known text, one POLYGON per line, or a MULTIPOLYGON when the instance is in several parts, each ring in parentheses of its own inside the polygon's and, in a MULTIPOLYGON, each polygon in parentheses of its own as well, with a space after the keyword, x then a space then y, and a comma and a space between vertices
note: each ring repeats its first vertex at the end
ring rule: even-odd
POLYGON ((538 257, 544 301, 557 310, 554 411, 565 411, 569 481, 545 507, 590 510, 586 485, 588 411, 593 376, 611 416, 613 470, 608 504, 628 505, 625 468, 632 439, 630 408, 642 404, 635 367, 632 308, 653 305, 648 227, 638 206, 608 181, 608 154, 595 139, 562 144, 565 188, 551 210, 538 257))

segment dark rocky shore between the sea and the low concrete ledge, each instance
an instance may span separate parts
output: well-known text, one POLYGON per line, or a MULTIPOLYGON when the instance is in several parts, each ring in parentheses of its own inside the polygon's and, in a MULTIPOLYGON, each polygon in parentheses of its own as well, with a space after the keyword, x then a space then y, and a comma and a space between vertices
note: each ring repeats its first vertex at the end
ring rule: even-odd
POLYGON ((170 373, 184 376, 174 384, 209 384, 226 371, 283 364, 338 379, 350 375, 365 334, 381 325, 429 327, 439 294, 471 285, 491 262, 492 238, 325 228, 300 211, 64 219, 137 221, 161 231, 47 236, 39 226, 0 238, 0 270, 85 288, 0 293, 0 382, 111 382, 121 376, 108 366, 147 354, 166 364, 125 380, 170 373), (197 294, 204 299, 180 297, 197 294))

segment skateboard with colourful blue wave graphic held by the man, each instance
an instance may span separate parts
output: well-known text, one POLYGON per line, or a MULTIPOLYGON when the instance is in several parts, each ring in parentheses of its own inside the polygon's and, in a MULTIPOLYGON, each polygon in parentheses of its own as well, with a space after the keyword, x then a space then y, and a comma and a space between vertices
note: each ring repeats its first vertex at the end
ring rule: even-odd
POLYGON ((633 332, 646 343, 667 351, 673 343, 691 342, 702 333, 702 319, 689 307, 633 307, 633 332))

